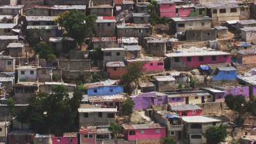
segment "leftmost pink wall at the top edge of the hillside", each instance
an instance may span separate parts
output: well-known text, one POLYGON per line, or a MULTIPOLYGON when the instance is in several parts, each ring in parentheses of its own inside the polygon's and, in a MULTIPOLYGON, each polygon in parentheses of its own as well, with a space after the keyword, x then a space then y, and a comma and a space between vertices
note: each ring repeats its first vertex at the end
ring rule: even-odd
POLYGON ((160 17, 176 17, 176 4, 159 4, 160 17))

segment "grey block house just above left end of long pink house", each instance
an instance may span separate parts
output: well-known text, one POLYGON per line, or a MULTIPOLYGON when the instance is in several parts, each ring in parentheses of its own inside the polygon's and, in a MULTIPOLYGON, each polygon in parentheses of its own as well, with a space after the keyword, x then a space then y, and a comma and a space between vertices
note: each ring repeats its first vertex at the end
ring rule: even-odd
POLYGON ((147 44, 144 49, 152 56, 164 57, 164 54, 166 54, 166 41, 147 38, 147 44))

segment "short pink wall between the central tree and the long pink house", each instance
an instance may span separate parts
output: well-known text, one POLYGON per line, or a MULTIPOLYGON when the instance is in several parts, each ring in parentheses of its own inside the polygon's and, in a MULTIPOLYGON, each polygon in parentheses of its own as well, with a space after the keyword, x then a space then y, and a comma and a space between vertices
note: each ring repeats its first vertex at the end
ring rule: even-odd
POLYGON ((146 73, 163 72, 164 61, 148 61, 147 63, 144 64, 143 68, 144 68, 144 72, 146 73), (163 65, 158 65, 158 63, 163 63, 163 65))

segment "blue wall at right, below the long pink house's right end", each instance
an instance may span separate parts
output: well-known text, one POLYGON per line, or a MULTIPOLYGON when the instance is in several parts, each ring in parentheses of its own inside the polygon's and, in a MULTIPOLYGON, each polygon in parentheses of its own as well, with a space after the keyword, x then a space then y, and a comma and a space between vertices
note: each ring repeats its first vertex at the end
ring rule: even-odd
POLYGON ((232 80, 236 80, 236 70, 219 71, 217 75, 212 76, 212 81, 232 81, 232 80))

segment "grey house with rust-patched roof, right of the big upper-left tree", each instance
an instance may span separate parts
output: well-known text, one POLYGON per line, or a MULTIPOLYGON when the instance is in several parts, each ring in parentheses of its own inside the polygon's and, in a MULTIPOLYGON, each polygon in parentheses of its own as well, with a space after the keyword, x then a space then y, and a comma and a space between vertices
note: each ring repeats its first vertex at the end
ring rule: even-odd
POLYGON ((92 47, 93 48, 117 47, 117 45, 116 45, 116 37, 93 37, 92 38, 92 47))

